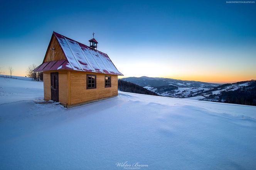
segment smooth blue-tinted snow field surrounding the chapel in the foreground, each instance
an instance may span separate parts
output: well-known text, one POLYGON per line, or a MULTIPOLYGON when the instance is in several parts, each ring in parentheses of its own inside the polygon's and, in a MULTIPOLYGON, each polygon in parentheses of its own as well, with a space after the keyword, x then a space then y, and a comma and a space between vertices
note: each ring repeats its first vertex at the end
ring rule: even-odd
POLYGON ((0 169, 254 169, 256 107, 119 92, 66 109, 0 77, 0 169))

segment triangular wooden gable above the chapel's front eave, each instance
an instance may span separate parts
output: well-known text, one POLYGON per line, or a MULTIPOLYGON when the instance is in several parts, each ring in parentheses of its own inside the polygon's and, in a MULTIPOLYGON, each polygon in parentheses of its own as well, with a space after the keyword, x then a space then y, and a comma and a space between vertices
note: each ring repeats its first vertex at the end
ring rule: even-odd
POLYGON ((61 49, 61 46, 57 42, 56 37, 53 36, 43 62, 51 62, 57 60, 66 60, 66 57, 61 49), (55 50, 50 50, 50 48, 55 48, 55 50))

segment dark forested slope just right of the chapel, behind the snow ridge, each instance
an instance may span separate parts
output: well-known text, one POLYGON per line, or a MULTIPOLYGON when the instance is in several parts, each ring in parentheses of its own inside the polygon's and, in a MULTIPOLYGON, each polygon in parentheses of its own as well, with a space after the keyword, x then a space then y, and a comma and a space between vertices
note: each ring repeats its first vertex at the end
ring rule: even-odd
POLYGON ((145 94, 145 95, 158 96, 157 93, 151 92, 150 90, 147 90, 146 88, 143 88, 134 83, 126 82, 124 80, 118 80, 118 90, 120 90, 122 92, 131 92, 131 93, 139 93, 139 94, 145 94))

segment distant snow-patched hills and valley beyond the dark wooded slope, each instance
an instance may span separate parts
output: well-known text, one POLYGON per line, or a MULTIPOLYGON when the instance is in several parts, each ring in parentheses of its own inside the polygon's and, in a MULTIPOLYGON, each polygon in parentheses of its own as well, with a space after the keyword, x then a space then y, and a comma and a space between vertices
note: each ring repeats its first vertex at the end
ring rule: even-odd
POLYGON ((122 78, 122 80, 142 85, 144 88, 160 96, 256 105, 256 80, 222 85, 145 76, 122 78))

